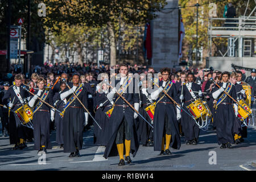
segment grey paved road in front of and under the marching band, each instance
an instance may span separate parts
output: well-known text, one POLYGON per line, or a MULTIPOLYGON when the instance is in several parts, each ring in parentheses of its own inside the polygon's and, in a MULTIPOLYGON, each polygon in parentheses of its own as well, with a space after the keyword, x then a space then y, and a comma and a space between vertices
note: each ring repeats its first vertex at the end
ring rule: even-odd
MULTIPOLYGON (((0 170, 246 170, 256 160, 256 127, 248 130, 245 142, 233 145, 232 149, 220 149, 214 130, 200 133, 199 144, 187 146, 184 138, 180 150, 172 150, 173 155, 158 156, 153 147, 140 146, 132 164, 119 167, 119 157, 106 160, 102 157, 104 146, 94 146, 93 128, 84 133, 84 147, 80 158, 68 158, 55 142, 55 132, 51 134, 52 150, 46 154, 46 164, 39 164, 34 144, 28 143, 23 150, 11 150, 8 137, 0 137, 0 170), (216 152, 216 164, 209 164, 209 152, 216 152)), ((213 153, 214 153, 213 152, 213 153)), ((212 154, 212 153, 210 153, 212 154)), ((42 160, 40 160, 42 163, 42 160)), ((212 161, 212 160, 211 160, 212 161)))

